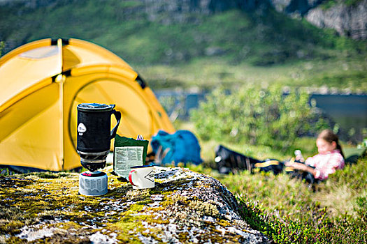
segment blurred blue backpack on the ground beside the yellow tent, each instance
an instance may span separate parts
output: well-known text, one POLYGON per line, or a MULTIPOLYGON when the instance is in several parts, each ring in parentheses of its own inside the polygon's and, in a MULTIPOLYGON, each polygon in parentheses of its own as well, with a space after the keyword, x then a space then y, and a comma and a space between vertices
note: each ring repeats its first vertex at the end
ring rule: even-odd
POLYGON ((200 145, 198 139, 189 130, 178 130, 169 134, 164 130, 159 130, 157 135, 152 137, 152 151, 156 154, 155 164, 175 166, 179 162, 192 162, 195 165, 201 164, 200 145), (162 153, 164 154, 161 157, 162 153))

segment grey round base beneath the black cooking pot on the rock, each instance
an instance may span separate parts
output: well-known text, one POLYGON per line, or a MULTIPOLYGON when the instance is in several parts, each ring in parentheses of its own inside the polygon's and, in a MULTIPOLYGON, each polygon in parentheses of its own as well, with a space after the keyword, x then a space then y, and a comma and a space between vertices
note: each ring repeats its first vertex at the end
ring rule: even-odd
POLYGON ((86 196, 101 196, 108 192, 107 174, 101 171, 85 171, 79 175, 79 193, 86 196))

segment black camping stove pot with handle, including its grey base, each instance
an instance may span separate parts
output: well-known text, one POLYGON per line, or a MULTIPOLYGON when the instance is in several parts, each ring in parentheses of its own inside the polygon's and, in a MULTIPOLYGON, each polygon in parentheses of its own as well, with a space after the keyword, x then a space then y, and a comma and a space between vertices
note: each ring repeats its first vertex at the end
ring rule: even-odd
POLYGON ((78 136, 76 150, 80 163, 89 171, 79 175, 79 193, 100 196, 108 192, 107 175, 98 171, 106 166, 110 152, 110 140, 115 138, 121 113, 113 109, 115 105, 82 103, 78 105, 78 136), (110 131, 111 115, 115 115, 117 125, 110 131))

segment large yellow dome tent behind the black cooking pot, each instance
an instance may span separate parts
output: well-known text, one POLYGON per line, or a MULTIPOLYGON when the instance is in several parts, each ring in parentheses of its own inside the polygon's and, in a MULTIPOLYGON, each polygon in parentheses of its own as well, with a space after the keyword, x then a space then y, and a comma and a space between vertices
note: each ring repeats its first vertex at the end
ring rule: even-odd
POLYGON ((122 113, 117 133, 125 137, 174 132, 152 90, 118 56, 83 40, 37 40, 0 59, 0 165, 80 167, 82 102, 115 104, 122 113))

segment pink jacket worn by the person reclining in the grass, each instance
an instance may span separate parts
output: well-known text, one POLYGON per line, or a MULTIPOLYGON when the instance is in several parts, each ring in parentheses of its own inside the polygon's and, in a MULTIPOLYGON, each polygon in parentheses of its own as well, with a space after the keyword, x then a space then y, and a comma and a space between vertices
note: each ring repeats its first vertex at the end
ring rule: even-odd
POLYGON ((305 160, 305 164, 315 167, 315 178, 320 180, 325 180, 329 174, 335 173, 336 169, 343 169, 345 165, 344 158, 338 149, 316 154, 305 160))

